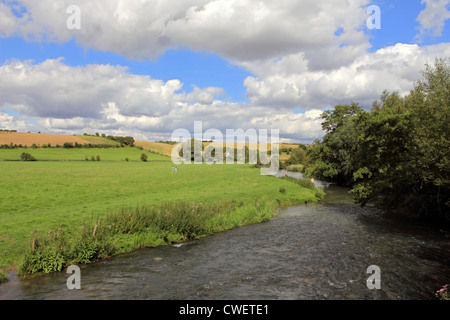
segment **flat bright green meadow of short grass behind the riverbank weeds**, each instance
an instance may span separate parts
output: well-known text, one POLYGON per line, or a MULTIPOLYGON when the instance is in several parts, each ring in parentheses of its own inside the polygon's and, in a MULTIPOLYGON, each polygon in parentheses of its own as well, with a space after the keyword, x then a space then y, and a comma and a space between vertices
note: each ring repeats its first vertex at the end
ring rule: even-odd
MULTIPOLYGON (((3 149, 0 159, 17 160, 22 152, 3 149)), ((242 208, 255 205, 274 211, 277 206, 317 201, 321 196, 320 190, 262 176, 251 165, 183 164, 172 173, 170 158, 146 152, 148 161, 143 162, 140 155, 145 151, 137 148, 28 148, 25 152, 38 161, 0 160, 0 269, 5 270, 20 264, 33 232, 60 229, 73 237, 86 222, 95 223, 124 208, 160 207, 174 201, 234 203, 242 214, 242 208), (97 155, 101 161, 85 161, 97 155)), ((233 226, 254 221, 246 216, 233 226)), ((124 241, 130 242, 127 250, 160 243, 124 241)))

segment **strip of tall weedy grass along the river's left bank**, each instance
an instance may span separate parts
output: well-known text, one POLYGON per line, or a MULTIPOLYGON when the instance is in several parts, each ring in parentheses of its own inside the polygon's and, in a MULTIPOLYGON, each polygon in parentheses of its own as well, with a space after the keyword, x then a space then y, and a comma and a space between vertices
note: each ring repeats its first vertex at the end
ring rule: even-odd
POLYGON ((124 207, 71 232, 62 228, 46 234, 33 232, 18 271, 22 277, 50 273, 139 247, 198 239, 267 221, 274 216, 274 209, 258 201, 251 206, 236 201, 214 205, 174 201, 162 203, 159 208, 124 207))

